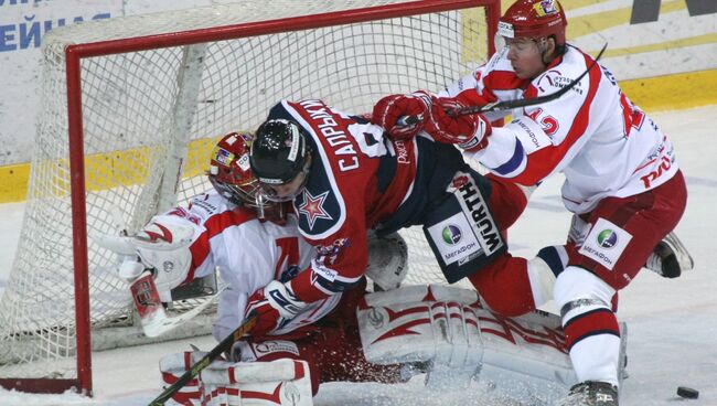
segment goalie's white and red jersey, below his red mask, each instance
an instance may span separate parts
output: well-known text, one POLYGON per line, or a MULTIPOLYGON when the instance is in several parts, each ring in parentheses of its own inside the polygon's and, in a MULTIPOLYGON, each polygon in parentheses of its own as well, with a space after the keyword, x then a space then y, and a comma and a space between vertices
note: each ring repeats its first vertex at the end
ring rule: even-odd
MULTIPOLYGON (((276 279, 288 281, 309 267, 314 248, 299 234, 297 217, 289 214, 285 225, 257 218, 253 210, 236 206, 212 192, 199 195, 188 209, 176 207, 162 217, 186 221, 194 228, 189 249, 192 265, 188 279, 204 277, 218 269, 229 285, 220 298, 214 335, 224 339, 243 320, 247 298, 276 279)), ((304 312, 271 334, 281 334, 312 323, 338 303, 341 295, 311 303, 304 312)))

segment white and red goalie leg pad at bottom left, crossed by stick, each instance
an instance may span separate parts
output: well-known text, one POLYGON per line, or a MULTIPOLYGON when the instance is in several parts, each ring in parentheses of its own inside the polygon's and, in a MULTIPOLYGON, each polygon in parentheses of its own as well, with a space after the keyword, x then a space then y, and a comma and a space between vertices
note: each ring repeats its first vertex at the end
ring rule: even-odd
MULTIPOLYGON (((171 385, 206 352, 169 354, 160 361, 163 385, 171 385)), ((217 360, 172 396, 174 405, 313 406, 309 364, 301 360, 217 360)))

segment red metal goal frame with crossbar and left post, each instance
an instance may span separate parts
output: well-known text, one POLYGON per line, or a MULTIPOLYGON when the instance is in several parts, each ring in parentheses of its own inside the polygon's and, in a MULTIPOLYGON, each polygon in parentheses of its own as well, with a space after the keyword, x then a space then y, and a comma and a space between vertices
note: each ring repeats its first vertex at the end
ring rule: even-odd
MULTIPOLYGON (((289 31, 311 30, 341 24, 418 15, 448 10, 483 8, 489 32, 495 32, 501 13, 500 0, 422 0, 351 9, 327 13, 281 18, 258 22, 204 28, 173 33, 162 33, 120 40, 69 44, 65 46, 67 118, 71 170, 71 203, 73 266, 75 279, 76 319, 76 378, 0 378, 0 386, 21 392, 63 393, 75 389, 92 396, 92 340, 89 312, 89 280, 87 255, 87 222, 85 202, 85 154, 82 99, 82 67, 84 58, 147 51, 162 47, 184 46, 210 41, 236 40, 254 35, 289 31)), ((488 54, 495 52, 493 39, 488 39, 488 54)))

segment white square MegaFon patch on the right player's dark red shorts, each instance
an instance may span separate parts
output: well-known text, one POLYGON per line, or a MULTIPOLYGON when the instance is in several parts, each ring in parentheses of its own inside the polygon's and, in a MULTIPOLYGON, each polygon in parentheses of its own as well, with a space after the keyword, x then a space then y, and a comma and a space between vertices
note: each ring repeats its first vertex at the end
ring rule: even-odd
POLYGON ((598 218, 578 253, 612 270, 631 239, 632 234, 604 218, 598 218))

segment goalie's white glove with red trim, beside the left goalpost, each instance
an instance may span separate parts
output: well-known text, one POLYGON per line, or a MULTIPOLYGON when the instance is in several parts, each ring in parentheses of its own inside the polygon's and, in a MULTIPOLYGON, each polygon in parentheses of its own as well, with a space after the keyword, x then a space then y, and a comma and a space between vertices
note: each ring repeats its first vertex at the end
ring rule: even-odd
POLYGON ((169 302, 171 290, 189 275, 193 235, 194 228, 186 221, 159 215, 131 237, 109 234, 92 237, 99 246, 117 254, 116 271, 126 281, 131 284, 145 269, 151 269, 161 300, 169 302))

